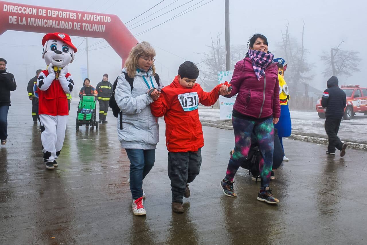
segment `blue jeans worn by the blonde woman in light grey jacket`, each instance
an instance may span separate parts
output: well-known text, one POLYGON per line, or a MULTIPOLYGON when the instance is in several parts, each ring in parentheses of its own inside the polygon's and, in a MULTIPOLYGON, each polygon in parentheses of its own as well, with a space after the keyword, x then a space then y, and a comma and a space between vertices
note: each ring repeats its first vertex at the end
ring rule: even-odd
POLYGON ((125 150, 130 160, 130 191, 135 200, 143 196, 143 180, 154 166, 156 150, 125 150))

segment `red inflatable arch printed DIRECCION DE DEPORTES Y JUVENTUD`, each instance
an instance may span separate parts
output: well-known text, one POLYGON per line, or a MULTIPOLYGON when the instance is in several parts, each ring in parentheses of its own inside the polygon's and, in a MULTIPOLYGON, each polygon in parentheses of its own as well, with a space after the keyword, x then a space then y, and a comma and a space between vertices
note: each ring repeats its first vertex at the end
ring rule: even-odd
POLYGON ((0 1, 0 35, 7 30, 103 38, 123 63, 138 43, 117 15, 0 1))

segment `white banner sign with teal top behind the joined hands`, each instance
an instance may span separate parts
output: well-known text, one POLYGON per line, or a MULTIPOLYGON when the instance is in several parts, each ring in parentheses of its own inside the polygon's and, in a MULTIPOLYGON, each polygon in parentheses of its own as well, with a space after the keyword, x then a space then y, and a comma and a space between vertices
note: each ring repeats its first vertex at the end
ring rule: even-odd
MULTIPOLYGON (((225 81, 230 82, 232 80, 233 71, 218 71, 218 84, 224 83, 225 81)), ((237 95, 232 98, 226 98, 219 95, 219 110, 220 119, 232 119, 233 104, 235 104, 237 95)))

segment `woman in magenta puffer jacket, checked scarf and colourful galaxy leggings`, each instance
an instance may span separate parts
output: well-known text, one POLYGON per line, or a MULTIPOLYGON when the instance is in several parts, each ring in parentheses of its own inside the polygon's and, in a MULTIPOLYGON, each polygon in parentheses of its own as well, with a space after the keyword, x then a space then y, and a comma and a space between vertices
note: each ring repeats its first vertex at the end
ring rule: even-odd
POLYGON ((235 197, 233 178, 246 160, 251 146, 252 132, 258 138, 261 159, 259 163, 261 187, 257 200, 278 203, 269 188, 273 165, 274 127, 279 121, 278 67, 273 63, 274 55, 268 52, 268 39, 255 34, 248 40, 248 53, 235 65, 230 84, 232 92, 226 97, 237 95, 233 105, 232 125, 235 132, 235 152, 229 159, 221 187, 226 196, 235 197))

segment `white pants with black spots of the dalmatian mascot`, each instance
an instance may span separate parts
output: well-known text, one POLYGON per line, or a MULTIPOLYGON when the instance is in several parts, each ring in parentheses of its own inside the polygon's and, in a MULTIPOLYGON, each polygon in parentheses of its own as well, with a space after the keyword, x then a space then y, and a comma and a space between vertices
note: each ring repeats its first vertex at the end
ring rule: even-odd
POLYGON ((50 116, 46 114, 39 116, 41 120, 43 159, 44 161, 54 162, 60 155, 64 143, 68 116, 50 116))

